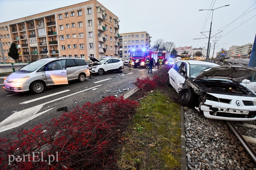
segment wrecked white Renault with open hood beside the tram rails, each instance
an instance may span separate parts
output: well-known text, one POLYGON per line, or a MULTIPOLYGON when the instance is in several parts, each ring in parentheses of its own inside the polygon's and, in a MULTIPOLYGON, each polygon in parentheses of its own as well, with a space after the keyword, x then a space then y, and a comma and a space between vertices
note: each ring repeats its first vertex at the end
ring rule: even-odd
POLYGON ((195 107, 207 118, 228 121, 256 120, 256 93, 240 84, 256 69, 203 61, 177 61, 167 84, 178 93, 183 106, 195 107))

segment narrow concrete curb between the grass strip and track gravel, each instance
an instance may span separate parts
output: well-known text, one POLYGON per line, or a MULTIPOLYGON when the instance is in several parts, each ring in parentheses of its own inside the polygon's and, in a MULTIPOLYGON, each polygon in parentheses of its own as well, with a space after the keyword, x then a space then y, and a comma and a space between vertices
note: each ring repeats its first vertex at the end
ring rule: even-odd
POLYGON ((181 107, 181 170, 187 169, 184 110, 181 107))

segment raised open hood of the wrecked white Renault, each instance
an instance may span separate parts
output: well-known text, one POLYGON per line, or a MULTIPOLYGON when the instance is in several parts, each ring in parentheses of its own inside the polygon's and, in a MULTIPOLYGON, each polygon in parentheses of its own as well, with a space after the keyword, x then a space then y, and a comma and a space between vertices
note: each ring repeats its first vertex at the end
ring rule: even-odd
POLYGON ((241 82, 254 73, 256 73, 256 69, 252 67, 244 65, 222 65, 202 71, 195 77, 195 79, 216 78, 241 82))

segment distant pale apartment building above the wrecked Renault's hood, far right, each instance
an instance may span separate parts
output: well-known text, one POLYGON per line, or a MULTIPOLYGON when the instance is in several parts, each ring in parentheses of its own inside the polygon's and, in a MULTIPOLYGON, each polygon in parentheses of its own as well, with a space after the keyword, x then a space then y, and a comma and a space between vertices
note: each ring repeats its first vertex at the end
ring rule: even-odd
POLYGON ((242 46, 231 46, 229 48, 230 57, 249 57, 252 51, 253 43, 248 43, 242 46))

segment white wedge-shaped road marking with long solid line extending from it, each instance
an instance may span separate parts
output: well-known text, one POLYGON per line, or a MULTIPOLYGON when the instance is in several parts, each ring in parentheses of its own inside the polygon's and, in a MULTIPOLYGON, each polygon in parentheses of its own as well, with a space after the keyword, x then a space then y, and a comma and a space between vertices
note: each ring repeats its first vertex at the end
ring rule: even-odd
POLYGON ((37 106, 34 106, 34 107, 30 107, 28 109, 24 109, 24 110, 18 111, 16 113, 13 113, 11 116, 9 116, 8 118, 4 119, 4 121, 0 122, 0 132, 3 132, 5 130, 9 130, 9 129, 14 128, 14 127, 18 127, 18 126, 26 123, 27 121, 30 121, 33 118, 35 118, 35 117, 37 117, 37 116, 39 116, 39 115, 41 115, 43 113, 46 113, 47 111, 53 109, 54 107, 49 109, 49 110, 46 110, 46 111, 43 111, 41 113, 36 114, 44 105, 46 105, 48 103, 51 103, 51 102, 54 102, 56 100, 60 100, 60 99, 63 99, 63 98, 66 98, 66 97, 69 97, 69 96, 72 96, 72 95, 75 95, 75 94, 78 94, 78 93, 82 93, 84 91, 87 91, 87 90, 90 90, 90 89, 93 89, 93 88, 96 88, 96 87, 99 87, 99 86, 102 86, 102 85, 97 85, 97 86, 94 86, 94 87, 91 87, 91 88, 87 88, 85 90, 78 91, 76 93, 72 93, 72 94, 60 97, 58 99, 54 99, 54 100, 45 102, 43 104, 40 104, 40 105, 37 105, 37 106), (17 123, 17 126, 15 125, 16 123, 17 123))

